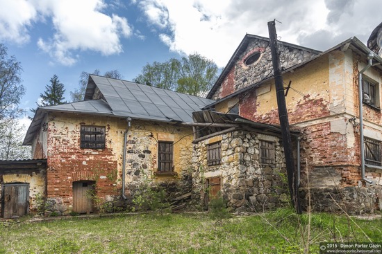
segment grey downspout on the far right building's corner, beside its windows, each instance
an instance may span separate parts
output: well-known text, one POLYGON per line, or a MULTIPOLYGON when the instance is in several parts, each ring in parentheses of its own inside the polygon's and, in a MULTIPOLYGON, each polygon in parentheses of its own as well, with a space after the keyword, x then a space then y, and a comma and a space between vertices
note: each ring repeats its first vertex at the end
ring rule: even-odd
POLYGON ((374 53, 372 51, 367 55, 367 60, 369 61, 367 66, 363 68, 358 74, 358 100, 360 103, 360 172, 361 178, 367 183, 372 183, 372 181, 365 178, 365 145, 363 144, 363 91, 362 91, 362 74, 367 71, 373 64, 374 53))

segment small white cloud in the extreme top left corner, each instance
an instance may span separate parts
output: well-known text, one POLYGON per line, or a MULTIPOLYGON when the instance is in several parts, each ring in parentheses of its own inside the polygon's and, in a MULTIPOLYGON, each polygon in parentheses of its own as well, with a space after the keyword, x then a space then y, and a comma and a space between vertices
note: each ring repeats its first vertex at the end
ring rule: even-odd
POLYGON ((0 39, 24 44, 37 11, 30 1, 0 0, 0 39))

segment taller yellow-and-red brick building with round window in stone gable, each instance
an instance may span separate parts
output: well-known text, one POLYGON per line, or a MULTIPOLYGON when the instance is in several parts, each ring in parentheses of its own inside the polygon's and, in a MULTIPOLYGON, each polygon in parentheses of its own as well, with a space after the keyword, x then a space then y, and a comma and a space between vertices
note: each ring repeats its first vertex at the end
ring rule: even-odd
MULTIPOLYGON (((290 126, 300 132, 302 197, 310 188, 316 210, 340 210, 333 199, 351 212, 381 210, 382 58, 356 37, 322 53, 279 47, 290 126)), ((205 109, 279 125, 270 55, 269 39, 245 35, 205 109)))

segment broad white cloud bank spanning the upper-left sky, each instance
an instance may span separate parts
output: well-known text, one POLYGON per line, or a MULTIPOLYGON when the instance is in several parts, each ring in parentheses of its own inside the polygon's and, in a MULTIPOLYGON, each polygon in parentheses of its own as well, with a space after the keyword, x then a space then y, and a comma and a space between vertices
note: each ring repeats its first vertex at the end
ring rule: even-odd
MULTIPOLYGON (((110 9, 119 1, 113 1, 110 9)), ((28 42, 28 28, 38 21, 53 22, 53 36, 40 37, 42 51, 65 65, 78 60, 78 51, 102 55, 122 52, 122 37, 132 35, 126 17, 107 15, 103 0, 0 0, 0 39, 28 42)))

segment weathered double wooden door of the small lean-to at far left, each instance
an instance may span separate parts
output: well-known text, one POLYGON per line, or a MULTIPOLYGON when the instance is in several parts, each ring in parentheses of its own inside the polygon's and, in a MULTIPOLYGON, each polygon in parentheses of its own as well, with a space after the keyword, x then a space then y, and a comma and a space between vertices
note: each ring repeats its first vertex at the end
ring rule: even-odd
POLYGON ((29 183, 7 183, 2 186, 3 217, 23 216, 29 208, 29 183))

